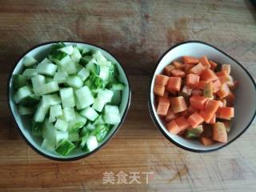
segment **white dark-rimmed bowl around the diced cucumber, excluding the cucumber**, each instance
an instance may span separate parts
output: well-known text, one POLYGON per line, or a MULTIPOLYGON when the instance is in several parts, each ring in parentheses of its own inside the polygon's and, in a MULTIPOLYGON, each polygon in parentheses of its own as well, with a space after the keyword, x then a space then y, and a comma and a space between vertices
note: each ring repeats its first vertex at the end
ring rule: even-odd
POLYGON ((22 117, 18 114, 17 106, 14 103, 14 100, 12 97, 14 94, 14 90, 12 89, 12 87, 13 87, 12 76, 13 76, 13 74, 20 74, 22 72, 22 70, 23 70, 22 58, 24 56, 33 56, 34 58, 37 58, 38 61, 40 61, 40 60, 42 60, 42 58, 45 58, 46 55, 50 52, 50 48, 54 43, 57 43, 57 42, 46 42, 46 43, 42 43, 38 46, 34 46, 30 50, 27 50, 26 53, 23 54, 22 57, 18 59, 18 62, 14 66, 14 70, 10 74, 10 78, 9 78, 9 81, 7 84, 8 100, 9 100, 9 104, 10 104, 11 113, 14 116, 14 120, 18 125, 20 133, 22 134, 22 137, 29 144, 29 146, 31 146, 36 152, 38 152, 38 154, 42 154, 46 158, 50 158, 50 159, 54 159, 54 160, 58 160, 58 161, 77 160, 79 158, 85 158, 85 157, 89 156, 90 154, 93 154, 94 152, 99 150, 102 146, 104 146, 106 144, 106 142, 108 142, 110 140, 110 138, 112 138, 114 136, 114 134, 117 132, 117 130, 122 126, 122 123, 124 122, 124 120, 126 118, 126 114, 130 107, 130 97, 131 97, 130 82, 129 82, 126 72, 122 68, 122 65, 120 64, 120 62, 118 62, 118 60, 116 58, 114 58, 114 56, 112 54, 110 54, 108 51, 104 50, 101 47, 90 45, 90 44, 84 43, 84 42, 64 42, 66 45, 79 44, 79 45, 85 46, 91 50, 101 50, 102 54, 108 60, 110 60, 111 62, 117 63, 118 70, 119 70, 119 79, 121 80, 121 82, 124 82, 127 85, 126 89, 123 90, 123 92, 122 92, 122 102, 119 107, 120 113, 122 115, 122 121, 118 125, 114 126, 110 130, 110 133, 103 140, 103 142, 95 150, 91 151, 90 153, 86 153, 82 150, 74 150, 70 155, 63 157, 60 154, 43 149, 41 147, 42 140, 34 137, 31 134, 30 124, 28 123, 29 120, 26 117, 22 117))

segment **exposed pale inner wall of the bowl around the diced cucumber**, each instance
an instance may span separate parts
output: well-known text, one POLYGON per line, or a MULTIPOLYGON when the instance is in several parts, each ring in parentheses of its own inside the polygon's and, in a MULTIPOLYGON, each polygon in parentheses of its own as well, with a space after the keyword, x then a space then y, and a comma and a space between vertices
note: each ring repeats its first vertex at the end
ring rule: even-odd
MULTIPOLYGON (((44 44, 42 46, 38 46, 36 48, 34 48, 33 50, 30 50, 26 56, 33 56, 34 58, 36 58, 38 61, 41 61, 42 58, 45 58, 46 55, 50 52, 50 48, 51 46, 54 44, 53 43, 47 43, 44 44)), ((102 54, 111 62, 117 63, 118 66, 118 70, 119 70, 119 80, 121 82, 126 83, 126 88, 125 90, 123 90, 122 92, 122 102, 119 106, 119 110, 120 113, 122 115, 122 121, 123 118, 125 118, 126 116, 126 110, 130 104, 130 87, 129 87, 129 83, 128 83, 128 79, 126 77, 125 71, 122 69, 122 66, 120 65, 120 63, 108 52, 106 52, 106 50, 102 50, 101 48, 98 48, 97 46, 92 46, 92 45, 88 45, 88 44, 84 44, 84 43, 77 43, 77 42, 65 42, 66 45, 75 45, 75 44, 80 44, 81 46, 84 46, 86 48, 89 48, 91 50, 101 50, 102 54)), ((25 56, 25 55, 24 55, 25 56)), ((22 66, 22 58, 18 61, 17 66, 15 66, 13 74, 20 74, 22 73, 23 70, 23 66, 22 66)), ((10 100, 10 109, 12 111, 12 113, 14 114, 14 118, 18 124, 18 127, 20 128, 22 134, 24 135, 24 137, 26 138, 26 140, 28 142, 30 142, 30 144, 32 146, 34 146, 34 148, 36 150, 38 150, 39 152, 41 152, 42 154, 46 154, 48 157, 50 158, 59 158, 59 159, 65 159, 65 158, 77 158, 82 156, 83 154, 86 154, 86 152, 82 151, 82 150, 74 150, 70 155, 68 155, 67 157, 63 157, 62 155, 59 155, 55 152, 51 152, 49 150, 45 150, 41 147, 41 143, 42 143, 42 139, 36 138, 31 134, 31 130, 30 130, 30 120, 26 117, 22 117, 18 114, 18 108, 16 106, 16 104, 14 103, 13 100, 13 94, 14 94, 14 90, 12 90, 11 88, 12 86, 12 78, 10 78, 10 93, 9 93, 9 100, 10 100)), ((104 145, 111 136, 113 136, 113 134, 115 133, 115 131, 118 129, 118 126, 121 126, 122 122, 119 125, 114 126, 111 130, 110 133, 106 136, 106 138, 103 140, 103 142, 98 146, 97 149, 99 149, 102 145, 104 145)), ((97 150, 96 149, 96 150, 97 150)), ((94 150, 95 151, 95 150, 94 150)), ((90 154, 92 154, 94 151, 90 152, 90 154)))

